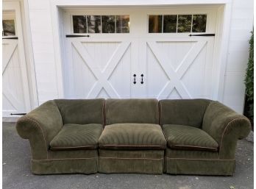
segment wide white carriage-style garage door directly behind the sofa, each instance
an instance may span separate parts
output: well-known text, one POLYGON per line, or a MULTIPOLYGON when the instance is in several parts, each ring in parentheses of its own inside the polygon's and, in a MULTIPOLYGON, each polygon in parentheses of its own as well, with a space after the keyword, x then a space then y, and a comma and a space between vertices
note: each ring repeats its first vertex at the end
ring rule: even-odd
POLYGON ((65 98, 212 98, 216 10, 65 10, 65 98))

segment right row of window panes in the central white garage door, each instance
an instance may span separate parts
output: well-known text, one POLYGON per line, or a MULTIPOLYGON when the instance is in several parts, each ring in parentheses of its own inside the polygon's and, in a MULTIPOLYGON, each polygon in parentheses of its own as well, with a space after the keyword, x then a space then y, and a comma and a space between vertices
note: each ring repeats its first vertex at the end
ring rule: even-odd
POLYGON ((149 33, 205 32, 207 15, 149 15, 149 33))

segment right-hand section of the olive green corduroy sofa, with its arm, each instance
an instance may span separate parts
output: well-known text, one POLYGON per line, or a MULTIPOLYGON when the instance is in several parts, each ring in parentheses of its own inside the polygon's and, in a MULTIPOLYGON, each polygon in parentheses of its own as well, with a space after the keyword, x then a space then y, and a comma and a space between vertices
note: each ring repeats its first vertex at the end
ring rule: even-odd
POLYGON ((251 130, 246 117, 218 101, 205 99, 160 101, 160 123, 168 141, 168 174, 234 174, 237 140, 251 130), (177 148, 177 143, 204 148, 177 148))

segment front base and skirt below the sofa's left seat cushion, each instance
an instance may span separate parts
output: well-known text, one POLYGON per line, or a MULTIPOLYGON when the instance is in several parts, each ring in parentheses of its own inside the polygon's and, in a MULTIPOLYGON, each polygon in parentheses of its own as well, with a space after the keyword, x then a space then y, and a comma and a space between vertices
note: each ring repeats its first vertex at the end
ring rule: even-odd
POLYGON ((46 160, 31 160, 33 174, 94 174, 99 170, 97 150, 49 151, 46 160))

